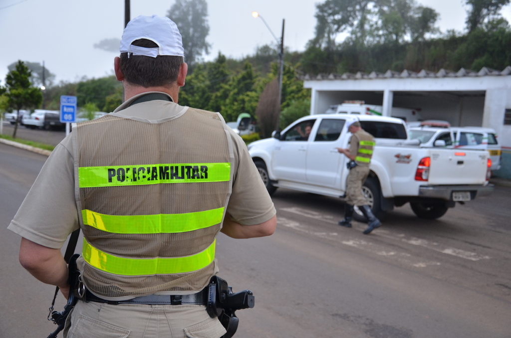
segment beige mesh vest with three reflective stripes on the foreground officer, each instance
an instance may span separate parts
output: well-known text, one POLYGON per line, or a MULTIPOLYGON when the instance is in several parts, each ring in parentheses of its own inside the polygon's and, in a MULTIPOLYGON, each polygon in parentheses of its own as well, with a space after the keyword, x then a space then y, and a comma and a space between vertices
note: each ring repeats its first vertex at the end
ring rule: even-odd
POLYGON ((205 287, 231 191, 222 118, 192 108, 157 122, 113 113, 73 133, 87 288, 121 300, 205 287))

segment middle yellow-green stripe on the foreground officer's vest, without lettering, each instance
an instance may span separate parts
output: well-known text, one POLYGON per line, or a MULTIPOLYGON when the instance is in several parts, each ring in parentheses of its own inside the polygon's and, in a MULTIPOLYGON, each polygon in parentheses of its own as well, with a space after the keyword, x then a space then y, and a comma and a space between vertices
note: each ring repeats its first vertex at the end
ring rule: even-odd
POLYGON ((155 215, 105 215, 82 210, 83 224, 112 233, 176 233, 211 227, 222 222, 224 208, 155 215))

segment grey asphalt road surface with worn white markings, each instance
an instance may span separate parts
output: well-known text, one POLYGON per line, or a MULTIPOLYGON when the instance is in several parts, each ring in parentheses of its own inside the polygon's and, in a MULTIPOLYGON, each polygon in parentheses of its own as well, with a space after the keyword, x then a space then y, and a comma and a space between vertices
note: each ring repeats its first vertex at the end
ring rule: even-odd
MULTIPOLYGON (((0 337, 54 329, 54 287, 20 267, 6 230, 45 159, 0 144, 0 337)), ((218 238, 220 275, 256 298, 236 337, 511 337, 511 189, 437 221, 403 206, 370 235, 337 225, 339 199, 278 189, 273 201, 274 235, 218 238)))

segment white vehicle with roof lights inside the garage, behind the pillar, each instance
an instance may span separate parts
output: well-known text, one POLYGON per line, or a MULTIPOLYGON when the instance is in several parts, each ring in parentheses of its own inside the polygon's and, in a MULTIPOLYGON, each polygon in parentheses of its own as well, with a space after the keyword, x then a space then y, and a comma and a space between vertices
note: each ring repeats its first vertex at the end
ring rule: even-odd
MULTIPOLYGON (((338 105, 331 105, 325 114, 355 114, 382 116, 383 107, 366 105, 364 101, 344 101, 338 105)), ((405 122, 421 120, 420 109, 392 107, 392 117, 401 118, 405 122)))

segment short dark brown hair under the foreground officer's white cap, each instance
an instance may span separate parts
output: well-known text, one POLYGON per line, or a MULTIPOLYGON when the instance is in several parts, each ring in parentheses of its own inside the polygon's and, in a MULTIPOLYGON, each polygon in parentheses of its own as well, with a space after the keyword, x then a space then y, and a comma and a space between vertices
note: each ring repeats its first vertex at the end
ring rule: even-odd
MULTIPOLYGON (((131 43, 135 46, 154 48, 158 45, 151 40, 139 39, 131 43)), ((144 55, 121 53, 121 71, 127 82, 148 87, 168 86, 177 81, 182 56, 158 55, 153 58, 144 55)))

